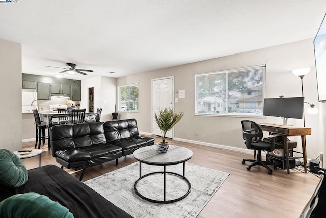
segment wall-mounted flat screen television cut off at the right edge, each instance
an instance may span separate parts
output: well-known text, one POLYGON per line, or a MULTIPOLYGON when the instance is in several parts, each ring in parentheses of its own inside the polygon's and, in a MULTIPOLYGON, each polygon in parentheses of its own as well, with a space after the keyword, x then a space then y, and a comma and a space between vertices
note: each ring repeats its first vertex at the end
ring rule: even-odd
POLYGON ((326 102, 326 15, 314 39, 318 100, 326 102))

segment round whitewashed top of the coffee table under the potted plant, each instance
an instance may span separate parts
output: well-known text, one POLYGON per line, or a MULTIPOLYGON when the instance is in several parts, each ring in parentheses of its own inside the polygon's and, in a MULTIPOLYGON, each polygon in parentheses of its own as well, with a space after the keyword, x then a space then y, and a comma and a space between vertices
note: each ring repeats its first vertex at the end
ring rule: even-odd
POLYGON ((133 152, 135 159, 150 165, 175 165, 187 161, 193 152, 185 147, 170 145, 166 153, 156 151, 155 146, 146 146, 133 152))

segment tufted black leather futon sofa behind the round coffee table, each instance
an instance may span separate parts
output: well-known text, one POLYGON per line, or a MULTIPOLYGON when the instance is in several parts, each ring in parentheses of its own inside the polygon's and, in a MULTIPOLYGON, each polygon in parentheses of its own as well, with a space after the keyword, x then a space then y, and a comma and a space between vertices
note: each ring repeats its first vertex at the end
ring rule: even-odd
POLYGON ((52 156, 62 167, 85 169, 132 154, 154 144, 152 137, 138 133, 135 119, 56 125, 49 129, 52 156))

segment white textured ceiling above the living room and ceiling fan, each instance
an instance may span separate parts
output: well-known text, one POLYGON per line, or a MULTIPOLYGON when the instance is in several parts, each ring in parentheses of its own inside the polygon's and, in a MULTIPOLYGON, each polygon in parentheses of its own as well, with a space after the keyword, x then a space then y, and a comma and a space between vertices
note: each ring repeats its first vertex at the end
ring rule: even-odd
MULTIPOLYGON (((121 77, 314 38, 325 0, 20 0, 0 4, 0 39, 21 43, 22 73, 65 63, 121 77), (107 72, 116 72, 110 74, 107 72)), ((1 48, 0 48, 1 49, 1 48)))

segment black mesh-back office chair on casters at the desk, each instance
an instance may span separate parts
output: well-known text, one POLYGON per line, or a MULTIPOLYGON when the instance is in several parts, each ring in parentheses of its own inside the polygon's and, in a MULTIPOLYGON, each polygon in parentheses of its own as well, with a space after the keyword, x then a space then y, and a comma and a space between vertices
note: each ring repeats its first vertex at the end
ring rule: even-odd
MULTIPOLYGON (((262 161, 261 159, 261 151, 273 151, 275 147, 275 139, 279 135, 270 135, 271 142, 264 142, 263 132, 260 127, 254 121, 250 120, 241 120, 242 124, 242 133, 243 139, 246 140, 244 144, 248 149, 257 150, 257 160, 255 159, 243 159, 242 164, 246 163, 246 161, 252 162, 251 165, 247 167, 247 170, 250 170, 251 167, 260 165, 268 169, 268 174, 272 174, 273 171, 268 167, 268 165, 274 165, 274 169, 277 169, 277 166, 273 162, 262 161)), ((268 156, 268 153, 266 153, 268 156)))

